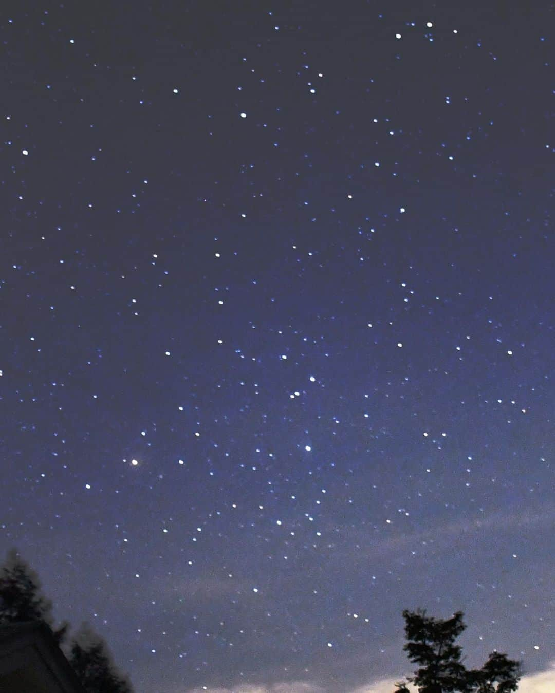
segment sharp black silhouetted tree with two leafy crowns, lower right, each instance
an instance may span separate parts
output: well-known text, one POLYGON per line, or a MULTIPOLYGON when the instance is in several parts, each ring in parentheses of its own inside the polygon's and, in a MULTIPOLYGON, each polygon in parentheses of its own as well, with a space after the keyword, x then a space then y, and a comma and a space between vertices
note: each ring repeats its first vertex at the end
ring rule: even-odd
MULTIPOLYGON (((466 629, 461 611, 442 620, 421 609, 405 609, 403 617, 407 637, 403 649, 419 665, 407 682, 419 693, 509 693, 518 689, 520 663, 504 654, 492 652, 482 669, 464 667, 461 647, 455 644, 466 629)), ((397 683, 396 693, 409 693, 407 683, 397 683)))

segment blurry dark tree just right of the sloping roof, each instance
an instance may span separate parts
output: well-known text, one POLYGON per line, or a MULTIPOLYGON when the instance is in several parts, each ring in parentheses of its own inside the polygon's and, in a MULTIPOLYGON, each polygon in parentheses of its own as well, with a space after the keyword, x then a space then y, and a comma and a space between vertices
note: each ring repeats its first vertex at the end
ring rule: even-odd
POLYGON ((73 639, 69 663, 85 693, 132 693, 129 680, 118 673, 100 635, 82 624, 73 639))

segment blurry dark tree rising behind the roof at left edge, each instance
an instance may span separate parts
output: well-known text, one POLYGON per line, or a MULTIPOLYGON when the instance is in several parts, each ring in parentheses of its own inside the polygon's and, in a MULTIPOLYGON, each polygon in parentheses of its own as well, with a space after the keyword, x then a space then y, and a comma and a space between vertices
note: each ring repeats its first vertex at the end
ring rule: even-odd
POLYGON ((0 624, 22 621, 42 621, 62 642, 67 624, 53 629, 52 602, 41 592, 35 571, 19 556, 17 549, 8 552, 0 571, 0 624))

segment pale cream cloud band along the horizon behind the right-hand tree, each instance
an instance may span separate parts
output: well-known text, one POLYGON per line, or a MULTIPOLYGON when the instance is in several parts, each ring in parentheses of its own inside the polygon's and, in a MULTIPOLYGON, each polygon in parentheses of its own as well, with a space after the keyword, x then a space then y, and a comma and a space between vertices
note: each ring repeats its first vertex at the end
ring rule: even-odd
MULTIPOLYGON (((367 685, 359 686, 350 693, 394 693, 395 683, 399 678, 382 678, 367 685)), ((304 681, 274 683, 264 685, 240 685, 233 688, 193 688, 184 693, 326 693, 326 688, 304 681)), ((411 690, 416 691, 412 687, 411 690)), ((555 661, 544 672, 522 676, 518 693, 553 693, 555 691, 555 661)), ((175 693, 178 693, 177 691, 175 693)))

